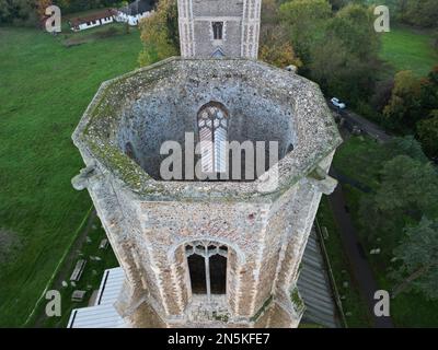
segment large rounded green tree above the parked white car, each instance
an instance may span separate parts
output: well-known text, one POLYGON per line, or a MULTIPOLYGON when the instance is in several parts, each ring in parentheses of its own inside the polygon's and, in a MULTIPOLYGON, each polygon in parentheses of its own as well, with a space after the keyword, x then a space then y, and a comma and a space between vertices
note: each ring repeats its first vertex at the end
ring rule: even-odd
POLYGON ((379 43, 371 10, 348 4, 327 20, 325 31, 313 39, 310 77, 325 93, 355 105, 373 92, 379 43))

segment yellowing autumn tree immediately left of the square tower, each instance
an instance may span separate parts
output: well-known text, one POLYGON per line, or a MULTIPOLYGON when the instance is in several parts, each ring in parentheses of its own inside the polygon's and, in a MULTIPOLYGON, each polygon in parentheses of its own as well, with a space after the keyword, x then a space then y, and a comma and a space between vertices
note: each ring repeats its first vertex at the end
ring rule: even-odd
POLYGON ((176 0, 161 0, 154 13, 140 21, 143 50, 140 66, 148 66, 171 56, 177 56, 178 31, 176 0))

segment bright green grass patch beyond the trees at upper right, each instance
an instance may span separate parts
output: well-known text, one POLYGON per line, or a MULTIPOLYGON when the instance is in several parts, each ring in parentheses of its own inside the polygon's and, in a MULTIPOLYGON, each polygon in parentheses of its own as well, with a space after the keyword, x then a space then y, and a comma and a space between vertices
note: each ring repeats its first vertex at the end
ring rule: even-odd
POLYGON ((405 26, 392 27, 390 33, 383 33, 380 58, 393 69, 388 75, 401 70, 412 70, 418 77, 427 75, 438 65, 438 50, 433 43, 430 33, 405 26))

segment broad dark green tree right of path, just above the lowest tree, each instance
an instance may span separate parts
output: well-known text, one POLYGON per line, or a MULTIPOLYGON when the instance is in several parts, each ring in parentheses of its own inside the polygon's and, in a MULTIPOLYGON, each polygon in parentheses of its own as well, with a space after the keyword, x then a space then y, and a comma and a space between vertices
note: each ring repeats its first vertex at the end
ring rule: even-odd
POLYGON ((400 241, 402 229, 416 224, 423 215, 438 214, 438 176, 430 163, 397 155, 384 163, 374 192, 362 196, 359 221, 368 240, 382 240, 388 255, 400 241), (390 218, 390 219, 389 219, 390 218))

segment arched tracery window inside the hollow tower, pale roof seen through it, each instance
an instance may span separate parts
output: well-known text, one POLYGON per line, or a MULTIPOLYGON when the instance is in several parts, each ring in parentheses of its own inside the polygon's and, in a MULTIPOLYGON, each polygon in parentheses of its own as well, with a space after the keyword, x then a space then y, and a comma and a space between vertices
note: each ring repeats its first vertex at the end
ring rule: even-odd
POLYGON ((210 102, 198 112, 200 164, 204 173, 227 172, 229 116, 224 106, 210 102))

